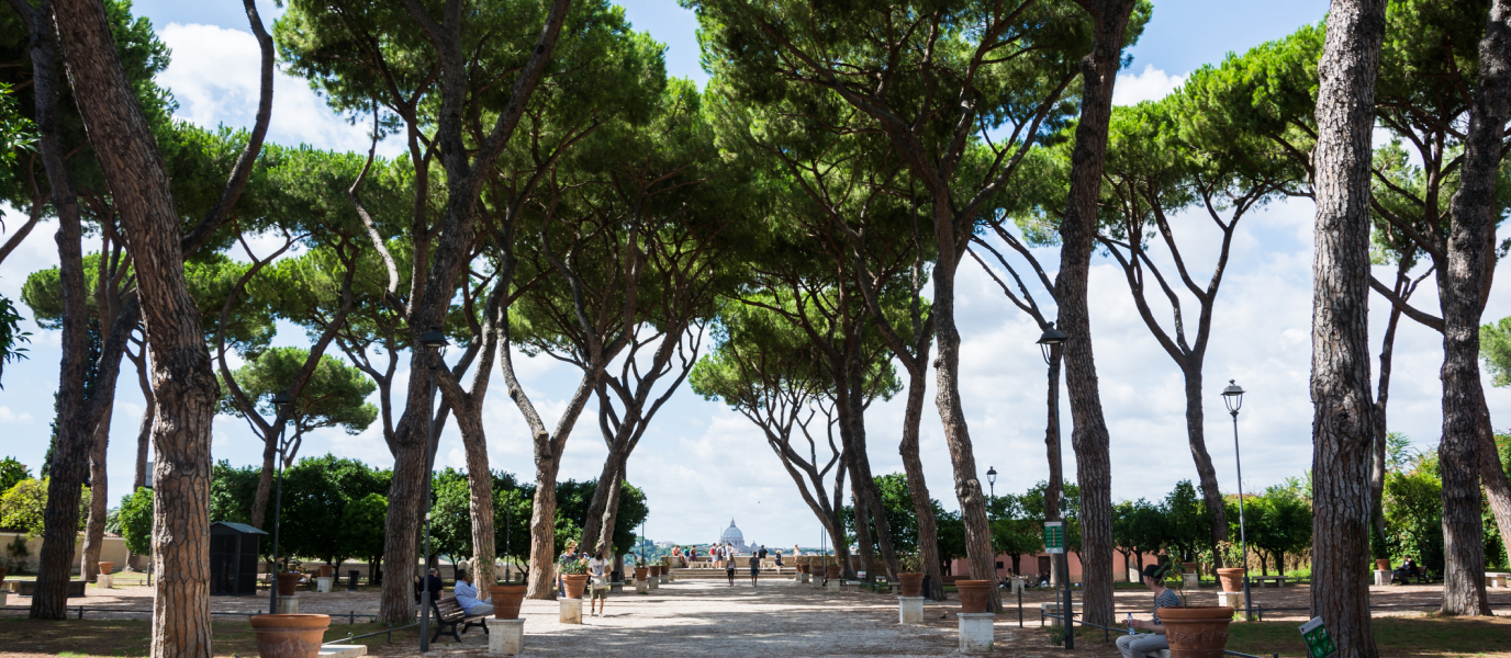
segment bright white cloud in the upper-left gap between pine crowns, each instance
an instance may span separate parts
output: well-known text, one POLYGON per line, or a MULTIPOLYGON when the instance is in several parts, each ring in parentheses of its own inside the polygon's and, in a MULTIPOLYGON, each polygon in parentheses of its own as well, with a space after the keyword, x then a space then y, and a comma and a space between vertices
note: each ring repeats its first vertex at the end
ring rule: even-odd
MULTIPOLYGON (((205 128, 216 125, 251 127, 257 113, 258 62, 257 39, 243 30, 216 26, 169 23, 159 38, 174 50, 172 63, 159 75, 178 100, 177 118, 205 128)), ((331 112, 310 83, 277 72, 273 112, 267 140, 283 145, 308 143, 337 151, 367 151, 364 127, 352 125, 331 112)), ((396 139, 379 143, 379 154, 402 151, 396 139)))

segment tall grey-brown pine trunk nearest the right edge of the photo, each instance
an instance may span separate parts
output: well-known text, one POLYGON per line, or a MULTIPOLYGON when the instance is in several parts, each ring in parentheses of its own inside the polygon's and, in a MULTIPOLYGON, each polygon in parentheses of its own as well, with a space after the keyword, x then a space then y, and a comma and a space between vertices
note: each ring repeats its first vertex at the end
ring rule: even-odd
MULTIPOLYGON (((1475 91, 1458 190, 1451 201, 1448 267, 1438 272, 1443 303, 1443 614, 1490 614, 1481 474, 1479 317, 1494 266, 1496 172, 1500 133, 1511 110, 1511 0, 1490 5, 1479 41, 1475 91)), ((1496 459, 1499 462, 1499 459, 1496 459)), ((1503 475, 1502 475, 1503 477, 1503 475)), ((1487 478, 1488 480, 1488 478, 1487 478)))

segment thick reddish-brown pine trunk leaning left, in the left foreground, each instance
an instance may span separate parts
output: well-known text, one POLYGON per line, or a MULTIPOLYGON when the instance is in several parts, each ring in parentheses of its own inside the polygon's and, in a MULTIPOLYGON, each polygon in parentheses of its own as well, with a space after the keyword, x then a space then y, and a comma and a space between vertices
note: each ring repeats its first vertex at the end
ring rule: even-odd
MULTIPOLYGON (((183 270, 180 217, 153 133, 98 2, 62 0, 57 27, 74 98, 100 157, 138 276, 153 355, 153 658, 210 656, 210 430, 219 386, 183 270)), ((73 527, 68 543, 73 543, 73 527)), ((70 560, 71 561, 71 560, 70 560)), ((41 589, 41 587, 39 587, 41 589)), ((60 604, 62 601, 59 601, 60 604)), ((38 601, 33 599, 33 610, 38 601)))

